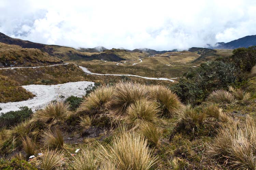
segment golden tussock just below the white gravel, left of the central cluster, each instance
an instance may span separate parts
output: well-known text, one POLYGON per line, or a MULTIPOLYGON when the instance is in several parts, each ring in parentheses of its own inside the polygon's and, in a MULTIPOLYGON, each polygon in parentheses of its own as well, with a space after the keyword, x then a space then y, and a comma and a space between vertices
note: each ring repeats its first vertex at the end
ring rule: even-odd
POLYGON ((43 123, 64 120, 70 114, 69 105, 62 101, 51 102, 43 110, 34 114, 33 119, 43 123))

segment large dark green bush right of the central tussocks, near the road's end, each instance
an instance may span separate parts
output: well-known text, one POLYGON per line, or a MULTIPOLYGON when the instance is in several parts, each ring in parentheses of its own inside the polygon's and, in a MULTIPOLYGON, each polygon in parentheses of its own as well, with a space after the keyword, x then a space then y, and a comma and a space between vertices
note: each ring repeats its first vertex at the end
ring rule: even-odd
POLYGON ((215 89, 227 88, 236 82, 239 70, 230 63, 221 61, 201 64, 184 74, 179 83, 171 88, 184 103, 199 104, 215 89))

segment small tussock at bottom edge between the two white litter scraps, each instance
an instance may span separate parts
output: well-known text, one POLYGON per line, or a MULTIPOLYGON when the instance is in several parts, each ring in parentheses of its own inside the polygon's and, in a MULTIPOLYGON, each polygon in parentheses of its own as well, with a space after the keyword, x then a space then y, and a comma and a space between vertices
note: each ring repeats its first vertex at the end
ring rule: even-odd
POLYGON ((63 152, 58 150, 49 150, 48 148, 43 152, 40 168, 44 170, 57 169, 63 163, 64 157, 63 152))

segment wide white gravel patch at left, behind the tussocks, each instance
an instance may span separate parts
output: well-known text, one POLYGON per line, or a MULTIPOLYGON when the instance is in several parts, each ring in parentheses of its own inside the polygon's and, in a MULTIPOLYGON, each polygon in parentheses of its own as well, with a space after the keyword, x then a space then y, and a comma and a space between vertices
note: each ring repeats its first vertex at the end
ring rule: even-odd
POLYGON ((61 99, 60 96, 65 96, 65 99, 70 96, 82 97, 85 95, 85 87, 94 82, 69 82, 56 85, 27 85, 22 86, 26 90, 32 92, 35 97, 29 100, 20 102, 0 103, 2 111, 6 113, 9 111, 17 111, 19 107, 28 106, 32 111, 44 108, 49 102, 61 99))

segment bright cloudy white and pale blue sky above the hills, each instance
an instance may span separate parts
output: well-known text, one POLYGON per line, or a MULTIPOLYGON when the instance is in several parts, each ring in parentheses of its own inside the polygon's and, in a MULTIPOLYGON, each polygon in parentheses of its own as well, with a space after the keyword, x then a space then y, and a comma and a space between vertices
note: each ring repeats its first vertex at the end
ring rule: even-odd
POLYGON ((255 0, 0 0, 0 32, 43 44, 155 50, 256 34, 255 0))

